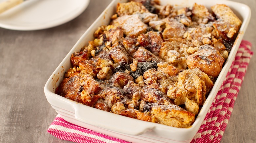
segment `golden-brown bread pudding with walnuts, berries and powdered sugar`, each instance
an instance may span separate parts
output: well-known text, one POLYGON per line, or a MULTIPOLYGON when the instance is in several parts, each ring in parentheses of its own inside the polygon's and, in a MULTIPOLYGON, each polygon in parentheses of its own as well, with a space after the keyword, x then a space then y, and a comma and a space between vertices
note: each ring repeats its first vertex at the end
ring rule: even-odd
POLYGON ((226 5, 211 9, 118 3, 111 23, 71 55, 72 68, 55 93, 114 114, 190 127, 242 24, 226 5))

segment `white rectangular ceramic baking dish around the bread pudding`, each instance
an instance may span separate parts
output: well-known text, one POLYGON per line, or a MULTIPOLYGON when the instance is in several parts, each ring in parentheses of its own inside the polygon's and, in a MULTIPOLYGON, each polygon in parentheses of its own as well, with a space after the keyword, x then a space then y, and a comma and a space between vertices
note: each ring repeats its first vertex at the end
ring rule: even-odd
POLYGON ((108 25, 110 23, 110 17, 116 13, 117 3, 123 2, 127 2, 127 0, 113 0, 76 42, 75 46, 70 50, 48 79, 44 87, 45 96, 56 112, 68 122, 105 135, 110 135, 130 142, 190 142, 199 130, 207 111, 224 81, 232 61, 234 60, 250 20, 250 8, 241 3, 225 0, 160 0, 161 5, 171 4, 176 7, 192 7, 194 3, 197 3, 206 6, 209 10, 213 5, 225 4, 243 21, 237 39, 225 62, 224 68, 217 78, 215 85, 206 99, 198 117, 195 119, 195 122, 189 128, 176 128, 98 110, 55 94, 55 89, 63 80, 65 71, 71 68, 71 54, 80 51, 83 46, 88 44, 88 41, 93 40, 93 35, 97 28, 101 25, 108 25))

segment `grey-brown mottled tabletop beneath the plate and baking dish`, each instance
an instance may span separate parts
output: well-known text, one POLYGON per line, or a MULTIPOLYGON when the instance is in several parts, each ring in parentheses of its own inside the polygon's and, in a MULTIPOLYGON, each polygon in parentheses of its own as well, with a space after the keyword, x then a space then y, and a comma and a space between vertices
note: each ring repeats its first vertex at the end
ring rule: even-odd
MULTIPOLYGON (((68 142, 47 133, 57 115, 47 102, 44 85, 85 30, 111 0, 91 0, 74 20, 45 30, 0 28, 0 142, 68 142)), ((256 53, 256 1, 234 0, 251 8, 244 39, 256 53)), ((256 141, 256 58, 251 58, 244 82, 221 142, 256 141)))

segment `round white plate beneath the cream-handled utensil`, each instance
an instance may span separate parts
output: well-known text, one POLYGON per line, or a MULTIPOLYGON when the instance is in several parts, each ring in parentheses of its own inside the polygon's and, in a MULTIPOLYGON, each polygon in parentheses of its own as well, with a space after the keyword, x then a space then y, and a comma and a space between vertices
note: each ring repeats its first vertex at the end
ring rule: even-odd
MULTIPOLYGON (((6 0, 0 0, 4 2, 6 0)), ((0 27, 40 30, 64 24, 80 15, 90 0, 27 0, 0 14, 0 27)))

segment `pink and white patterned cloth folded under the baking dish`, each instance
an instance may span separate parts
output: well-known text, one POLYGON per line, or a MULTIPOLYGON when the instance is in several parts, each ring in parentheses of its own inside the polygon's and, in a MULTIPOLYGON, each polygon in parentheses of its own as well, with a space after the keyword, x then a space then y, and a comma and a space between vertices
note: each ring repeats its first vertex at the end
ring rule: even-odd
MULTIPOLYGON (((220 142, 252 55, 251 43, 243 40, 215 100, 191 143, 220 142)), ((57 138, 79 143, 128 143, 69 123, 59 114, 47 132, 57 138)))

